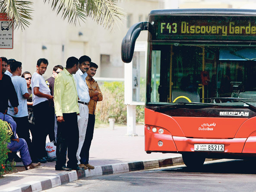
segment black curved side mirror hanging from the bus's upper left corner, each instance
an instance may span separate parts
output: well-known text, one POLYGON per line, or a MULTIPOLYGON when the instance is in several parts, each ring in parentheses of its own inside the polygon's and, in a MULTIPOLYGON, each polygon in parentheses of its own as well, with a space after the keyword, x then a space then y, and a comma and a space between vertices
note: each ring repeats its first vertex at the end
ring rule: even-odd
POLYGON ((132 61, 136 39, 140 31, 147 30, 147 25, 148 22, 139 22, 129 28, 121 46, 122 61, 124 63, 130 63, 132 61))

